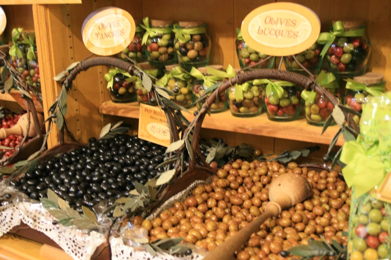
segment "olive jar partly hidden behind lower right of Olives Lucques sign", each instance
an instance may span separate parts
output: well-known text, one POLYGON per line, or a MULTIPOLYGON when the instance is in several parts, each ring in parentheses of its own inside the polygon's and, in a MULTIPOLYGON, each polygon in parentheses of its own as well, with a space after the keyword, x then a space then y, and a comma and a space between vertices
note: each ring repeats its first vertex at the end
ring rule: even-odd
MULTIPOLYGON (((296 54, 296 59, 312 74, 319 74, 322 68, 321 45, 314 43, 307 50, 296 54)), ((307 72, 299 65, 293 56, 284 57, 285 67, 289 71, 307 75, 307 72)))

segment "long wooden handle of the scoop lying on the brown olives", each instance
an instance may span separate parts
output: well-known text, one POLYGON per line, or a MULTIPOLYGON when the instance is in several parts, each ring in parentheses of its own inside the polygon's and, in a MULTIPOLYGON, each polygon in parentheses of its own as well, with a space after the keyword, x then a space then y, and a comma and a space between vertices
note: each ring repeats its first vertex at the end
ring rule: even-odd
MULTIPOLYGON (((279 212, 277 212, 277 216, 279 212)), ((235 252, 250 238, 251 234, 257 232, 268 218, 276 216, 276 211, 266 209, 266 211, 250 222, 245 228, 241 229, 234 237, 226 240, 223 244, 218 246, 210 252, 203 260, 226 260, 232 258, 235 252)))

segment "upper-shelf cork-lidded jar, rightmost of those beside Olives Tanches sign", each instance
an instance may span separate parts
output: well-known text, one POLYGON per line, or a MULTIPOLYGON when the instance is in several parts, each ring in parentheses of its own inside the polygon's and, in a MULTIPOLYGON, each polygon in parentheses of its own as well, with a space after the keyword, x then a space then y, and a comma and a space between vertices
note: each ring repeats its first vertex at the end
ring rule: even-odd
POLYGON ((179 22, 174 25, 175 50, 179 64, 190 71, 192 67, 204 67, 209 63, 211 40, 203 22, 179 22))

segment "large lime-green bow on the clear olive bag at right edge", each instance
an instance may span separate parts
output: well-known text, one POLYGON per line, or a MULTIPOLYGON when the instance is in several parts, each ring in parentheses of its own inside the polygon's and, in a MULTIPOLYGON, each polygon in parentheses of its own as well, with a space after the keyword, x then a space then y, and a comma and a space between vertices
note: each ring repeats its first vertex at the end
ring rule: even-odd
POLYGON ((386 169, 389 169, 390 165, 386 165, 379 154, 378 145, 365 150, 360 135, 357 141, 348 141, 344 144, 340 160, 346 166, 342 173, 348 187, 355 187, 357 197, 369 192, 384 180, 386 169))

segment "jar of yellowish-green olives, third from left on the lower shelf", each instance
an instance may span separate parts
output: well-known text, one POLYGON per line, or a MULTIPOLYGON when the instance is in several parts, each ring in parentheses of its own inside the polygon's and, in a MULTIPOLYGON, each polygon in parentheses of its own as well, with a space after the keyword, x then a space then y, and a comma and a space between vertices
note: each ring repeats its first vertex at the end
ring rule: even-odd
POLYGON ((170 99, 179 106, 191 108, 193 106, 193 84, 191 76, 184 73, 178 64, 166 66, 166 74, 158 81, 156 86, 168 89, 172 96, 170 99))

